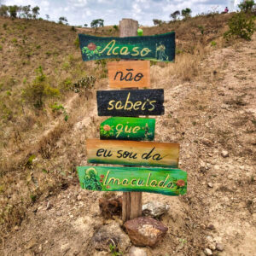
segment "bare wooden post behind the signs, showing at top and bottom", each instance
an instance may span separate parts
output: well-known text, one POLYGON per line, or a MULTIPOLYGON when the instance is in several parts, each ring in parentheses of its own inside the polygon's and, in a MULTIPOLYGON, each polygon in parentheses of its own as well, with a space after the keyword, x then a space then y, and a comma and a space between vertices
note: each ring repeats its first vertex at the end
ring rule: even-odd
MULTIPOLYGON (((119 37, 136 37, 137 20, 123 19, 119 21, 119 37)), ((126 60, 124 60, 126 61, 126 60)), ((142 216, 142 192, 123 192, 122 218, 127 221, 142 216)))

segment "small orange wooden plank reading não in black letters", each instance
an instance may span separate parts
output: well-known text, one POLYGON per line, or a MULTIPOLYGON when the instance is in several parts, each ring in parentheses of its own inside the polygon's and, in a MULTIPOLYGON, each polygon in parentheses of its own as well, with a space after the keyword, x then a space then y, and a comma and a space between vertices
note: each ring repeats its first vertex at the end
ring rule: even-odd
POLYGON ((150 87, 150 61, 108 62, 110 88, 150 87))

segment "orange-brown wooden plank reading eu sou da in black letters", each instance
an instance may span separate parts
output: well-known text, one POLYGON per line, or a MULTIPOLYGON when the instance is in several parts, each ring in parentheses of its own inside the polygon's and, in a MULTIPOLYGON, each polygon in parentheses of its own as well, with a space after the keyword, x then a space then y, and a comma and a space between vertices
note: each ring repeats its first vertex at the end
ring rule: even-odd
POLYGON ((89 163, 177 168, 178 143, 87 139, 86 146, 89 163))

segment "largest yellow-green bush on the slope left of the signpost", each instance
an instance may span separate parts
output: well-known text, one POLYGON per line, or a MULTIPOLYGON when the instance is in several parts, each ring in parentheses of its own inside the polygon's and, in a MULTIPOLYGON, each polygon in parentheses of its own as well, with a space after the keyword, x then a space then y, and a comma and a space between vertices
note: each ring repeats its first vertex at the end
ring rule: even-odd
POLYGON ((51 87, 48 84, 43 68, 39 66, 36 70, 38 76, 33 80, 32 84, 28 84, 22 92, 22 96, 26 102, 32 104, 34 108, 42 109, 44 99, 47 97, 60 96, 60 90, 51 87))

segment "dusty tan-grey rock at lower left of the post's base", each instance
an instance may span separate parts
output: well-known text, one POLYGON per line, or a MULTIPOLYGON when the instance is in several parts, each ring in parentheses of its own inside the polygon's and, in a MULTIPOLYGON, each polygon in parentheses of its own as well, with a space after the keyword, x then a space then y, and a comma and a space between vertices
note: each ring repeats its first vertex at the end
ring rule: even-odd
POLYGON ((108 251, 111 243, 123 253, 131 246, 129 236, 116 222, 102 226, 91 238, 91 244, 96 250, 108 251))

